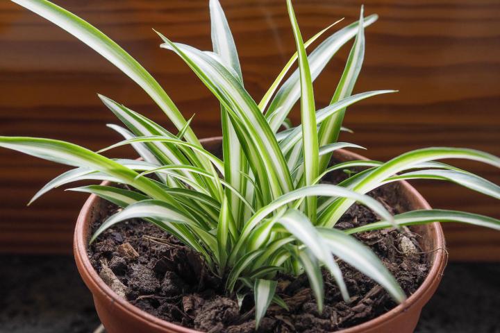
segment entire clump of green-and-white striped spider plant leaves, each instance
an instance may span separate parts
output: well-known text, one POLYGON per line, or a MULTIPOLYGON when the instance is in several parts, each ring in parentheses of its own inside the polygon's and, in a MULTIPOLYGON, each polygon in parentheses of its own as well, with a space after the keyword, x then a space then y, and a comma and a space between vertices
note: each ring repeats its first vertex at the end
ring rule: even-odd
POLYGON ((263 99, 255 101, 244 89, 242 71, 228 22, 217 0, 210 0, 213 51, 163 40, 220 101, 223 159, 206 151, 176 105, 158 82, 115 42, 67 10, 44 0, 12 0, 49 19, 132 78, 172 121, 178 134, 105 96, 103 103, 124 123, 109 125, 124 137, 100 152, 53 139, 0 137, 0 146, 67 164, 72 169, 51 180, 32 200, 76 180, 110 180, 128 189, 93 185, 74 191, 97 194, 123 210, 103 222, 90 241, 120 221, 142 218, 183 241, 205 259, 214 274, 226 281, 228 293, 252 290, 256 323, 271 302, 286 307, 275 294, 278 271, 306 273, 321 311, 324 286, 321 269, 335 278, 342 296, 347 287, 334 256, 381 284, 399 302, 405 294, 369 248, 350 236, 356 232, 399 228, 433 221, 458 221, 500 229, 500 221, 487 216, 448 210, 417 210, 392 216, 368 191, 398 180, 449 180, 494 198, 500 187, 441 159, 462 158, 500 167, 500 158, 467 148, 424 148, 388 162, 354 160, 328 167, 339 148, 362 148, 338 142, 346 108, 353 103, 392 90, 352 94, 365 53, 364 28, 376 15, 363 17, 327 37, 309 55, 306 47, 331 26, 303 42, 290 0, 288 14, 297 53, 285 65, 263 99), (355 39, 330 105, 317 110, 313 80, 349 40, 355 39), (295 62, 298 69, 286 80, 295 62), (285 80, 283 82, 283 80, 285 80), (301 125, 291 127, 287 117, 300 100, 301 125), (281 126, 287 129, 281 132, 281 126), (131 145, 142 160, 110 159, 101 152, 131 145), (320 184, 335 170, 366 167, 338 185, 320 184), (155 178, 147 177, 154 173, 155 178), (382 221, 351 230, 337 223, 355 202, 366 205, 382 221))

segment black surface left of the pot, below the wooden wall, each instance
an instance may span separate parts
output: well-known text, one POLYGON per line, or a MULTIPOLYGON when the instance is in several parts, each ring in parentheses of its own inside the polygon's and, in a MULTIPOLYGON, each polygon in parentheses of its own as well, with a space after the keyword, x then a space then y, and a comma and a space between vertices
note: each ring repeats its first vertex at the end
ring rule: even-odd
POLYGON ((73 257, 0 256, 1 333, 88 333, 98 325, 73 257))

